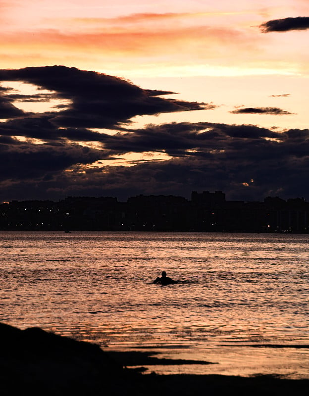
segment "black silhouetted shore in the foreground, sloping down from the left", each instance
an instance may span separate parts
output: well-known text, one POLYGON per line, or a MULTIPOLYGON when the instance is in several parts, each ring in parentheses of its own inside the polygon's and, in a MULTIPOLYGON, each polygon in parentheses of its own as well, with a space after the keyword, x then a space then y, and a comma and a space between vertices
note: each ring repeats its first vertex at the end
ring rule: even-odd
MULTIPOLYGON (((1 395, 291 395, 306 394, 309 380, 279 376, 141 374, 143 364, 164 362, 136 352, 108 352, 91 343, 0 323, 1 395), (145 360, 146 359, 146 360, 145 360), (150 359, 150 360, 149 360, 150 359), (127 367, 141 366, 139 369, 127 367)), ((195 361, 168 361, 193 364, 195 361)), ((199 362, 209 364, 209 362, 199 362)))

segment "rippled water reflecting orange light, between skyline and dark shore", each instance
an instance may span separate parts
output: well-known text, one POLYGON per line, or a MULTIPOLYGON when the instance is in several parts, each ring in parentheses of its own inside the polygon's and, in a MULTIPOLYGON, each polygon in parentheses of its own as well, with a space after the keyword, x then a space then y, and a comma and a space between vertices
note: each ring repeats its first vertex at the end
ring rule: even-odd
POLYGON ((219 363, 157 372, 309 378, 307 235, 2 231, 0 250, 1 322, 219 363))

